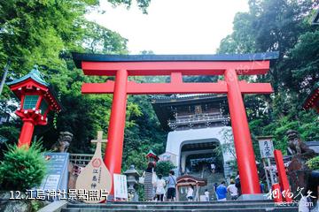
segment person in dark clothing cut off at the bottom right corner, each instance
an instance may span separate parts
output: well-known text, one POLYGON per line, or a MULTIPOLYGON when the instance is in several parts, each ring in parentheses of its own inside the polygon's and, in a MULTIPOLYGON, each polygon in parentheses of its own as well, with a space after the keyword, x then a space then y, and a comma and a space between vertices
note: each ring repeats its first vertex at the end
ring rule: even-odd
POLYGON ((299 212, 319 211, 319 171, 312 171, 307 180, 307 188, 303 191, 299 202, 299 212), (308 197, 307 197, 308 196, 308 197))

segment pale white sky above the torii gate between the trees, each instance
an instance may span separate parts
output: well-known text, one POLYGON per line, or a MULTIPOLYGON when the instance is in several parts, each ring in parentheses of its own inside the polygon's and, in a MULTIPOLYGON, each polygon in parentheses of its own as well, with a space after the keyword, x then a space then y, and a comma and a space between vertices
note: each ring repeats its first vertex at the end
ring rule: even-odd
POLYGON ((152 0, 143 14, 100 1, 99 11, 87 15, 128 39, 129 54, 214 54, 222 38, 232 32, 238 11, 248 11, 247 0, 152 0))

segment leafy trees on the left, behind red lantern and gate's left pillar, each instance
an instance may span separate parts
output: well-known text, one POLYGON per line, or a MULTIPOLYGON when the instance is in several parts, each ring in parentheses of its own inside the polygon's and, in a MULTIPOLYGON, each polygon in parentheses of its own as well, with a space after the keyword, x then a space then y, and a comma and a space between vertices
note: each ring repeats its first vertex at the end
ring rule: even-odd
MULTIPOLYGON (((132 1, 110 0, 114 5, 129 6, 132 1)), ((136 0, 145 12, 149 0, 136 0)), ((39 64, 46 80, 51 83, 64 110, 58 115, 51 113, 49 123, 36 126, 34 135, 43 137, 44 148, 58 139, 58 132, 74 133, 69 150, 73 153, 92 153, 90 140, 96 138, 97 130, 107 132, 112 95, 82 95, 83 82, 103 82, 105 77, 85 76, 76 69, 72 51, 127 54, 128 40, 105 27, 84 18, 87 12, 96 10, 97 0, 8 0, 0 2, 0 66, 8 59, 12 66, 8 79, 19 78, 39 64)), ((112 78, 110 78, 112 79, 112 78)), ((0 98, 1 114, 12 114, 13 97, 4 87, 0 98)), ((147 96, 128 99, 124 168, 136 163, 143 170, 144 154, 155 145, 163 150, 164 133, 155 119, 147 96), (155 132, 155 133, 154 133, 155 132), (136 160, 136 156, 140 155, 136 160)), ((16 143, 21 122, 19 118, 0 125, 0 133, 8 143, 16 143)), ((4 149, 4 145, 1 146, 4 149)), ((1 151, 1 154, 3 151, 1 151)), ((0 155, 1 158, 1 155, 0 155)))

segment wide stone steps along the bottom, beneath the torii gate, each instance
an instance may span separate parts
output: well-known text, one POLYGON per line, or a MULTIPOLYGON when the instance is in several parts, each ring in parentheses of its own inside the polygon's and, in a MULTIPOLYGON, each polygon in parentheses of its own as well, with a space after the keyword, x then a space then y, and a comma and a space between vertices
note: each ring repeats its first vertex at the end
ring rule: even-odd
POLYGON ((106 202, 105 204, 68 203, 61 212, 101 211, 227 211, 227 212, 297 212, 298 207, 275 207, 273 201, 180 201, 180 202, 106 202))

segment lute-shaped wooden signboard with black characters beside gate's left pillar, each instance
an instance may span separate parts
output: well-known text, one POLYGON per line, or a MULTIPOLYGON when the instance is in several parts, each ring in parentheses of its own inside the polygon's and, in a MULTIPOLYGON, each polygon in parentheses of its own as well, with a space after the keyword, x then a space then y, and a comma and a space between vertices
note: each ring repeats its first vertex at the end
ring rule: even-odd
POLYGON ((88 198, 82 199, 86 203, 105 201, 105 195, 101 195, 101 191, 110 192, 112 187, 111 174, 102 159, 101 144, 106 142, 102 139, 102 134, 102 131, 98 131, 97 140, 91 140, 91 142, 97 142, 96 151, 76 180, 75 188, 78 191, 81 189, 88 193, 88 198), (89 195, 90 193, 94 193, 94 195, 89 195))

